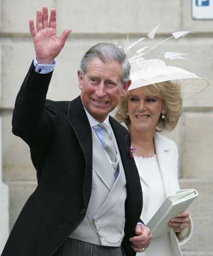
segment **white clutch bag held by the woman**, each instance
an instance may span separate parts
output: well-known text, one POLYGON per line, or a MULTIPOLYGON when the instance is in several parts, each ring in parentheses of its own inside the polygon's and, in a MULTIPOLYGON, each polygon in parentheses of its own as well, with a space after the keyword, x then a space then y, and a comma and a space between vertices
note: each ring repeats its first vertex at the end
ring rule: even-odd
POLYGON ((176 194, 167 197, 146 225, 150 228, 152 237, 155 238, 156 236, 169 232, 171 229, 168 226, 170 219, 184 212, 197 196, 198 191, 194 190, 194 188, 189 188, 187 190, 180 190, 176 194))

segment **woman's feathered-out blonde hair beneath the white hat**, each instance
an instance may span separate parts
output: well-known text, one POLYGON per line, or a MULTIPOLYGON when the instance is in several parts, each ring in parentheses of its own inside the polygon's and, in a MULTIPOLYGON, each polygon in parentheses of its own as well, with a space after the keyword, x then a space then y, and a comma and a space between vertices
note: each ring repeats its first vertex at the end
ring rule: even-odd
MULTIPOLYGON (((165 118, 163 119, 161 115, 158 120, 156 131, 161 132, 164 129, 173 130, 180 118, 183 104, 180 84, 167 81, 155 85, 147 85, 144 88, 146 95, 162 99, 163 107, 166 110, 165 118)), ((130 118, 128 116, 128 94, 125 98, 120 99, 115 118, 120 123, 125 122, 127 125, 130 124, 130 118)))

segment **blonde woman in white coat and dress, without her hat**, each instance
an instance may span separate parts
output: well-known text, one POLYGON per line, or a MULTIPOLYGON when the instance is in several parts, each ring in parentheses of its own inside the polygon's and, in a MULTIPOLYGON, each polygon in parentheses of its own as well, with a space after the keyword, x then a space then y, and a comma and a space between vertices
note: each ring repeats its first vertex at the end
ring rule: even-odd
MULTIPOLYGON (((182 98, 180 85, 175 82, 136 87, 133 90, 130 87, 126 98, 120 101, 116 119, 127 127, 131 146, 136 149, 134 160, 144 197, 141 219, 147 223, 166 197, 180 190, 176 144, 159 132, 175 128, 182 98)), ((137 255, 182 255, 179 244, 185 243, 192 233, 189 213, 174 216, 168 225, 172 227, 170 233, 153 238, 145 252, 137 255)))

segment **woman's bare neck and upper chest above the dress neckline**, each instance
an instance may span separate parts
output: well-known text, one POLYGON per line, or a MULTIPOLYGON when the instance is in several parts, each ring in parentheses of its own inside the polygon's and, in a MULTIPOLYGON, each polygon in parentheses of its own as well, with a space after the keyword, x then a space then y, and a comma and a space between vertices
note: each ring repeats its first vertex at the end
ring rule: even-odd
POLYGON ((153 140, 155 131, 139 131, 131 124, 128 126, 131 136, 131 146, 136 148, 134 154, 138 157, 153 157, 155 155, 155 143, 153 140))

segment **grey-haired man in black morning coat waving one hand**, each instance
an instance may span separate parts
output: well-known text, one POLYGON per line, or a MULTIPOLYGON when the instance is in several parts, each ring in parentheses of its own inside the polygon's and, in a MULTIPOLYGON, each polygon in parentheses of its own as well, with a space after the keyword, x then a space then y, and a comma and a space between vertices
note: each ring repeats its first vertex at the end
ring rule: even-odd
POLYGON ((36 59, 16 98, 13 133, 30 147, 38 187, 24 205, 2 256, 135 255, 150 230, 142 208, 130 137, 108 113, 131 84, 125 54, 113 44, 86 52, 80 97, 46 100, 55 57, 71 30, 55 34, 56 12, 29 21, 36 59), (106 128, 106 130, 105 130, 106 128))

